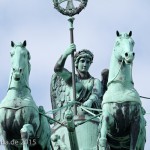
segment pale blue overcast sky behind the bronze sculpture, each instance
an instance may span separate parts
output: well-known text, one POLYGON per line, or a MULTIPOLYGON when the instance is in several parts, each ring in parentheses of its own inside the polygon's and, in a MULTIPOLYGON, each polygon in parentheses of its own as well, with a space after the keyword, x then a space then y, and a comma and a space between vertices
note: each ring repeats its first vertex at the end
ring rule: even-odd
MULTIPOLYGON (((150 97, 150 1, 89 0, 86 9, 75 16, 74 41, 77 50, 94 53, 90 73, 101 79, 109 67, 116 30, 133 32, 135 60, 133 80, 142 96, 150 97)), ((10 71, 10 42, 27 41, 31 54, 30 88, 37 105, 51 109, 50 80, 53 68, 69 46, 68 17, 53 8, 52 0, 0 0, 0 99, 7 92, 10 71)), ((71 68, 70 59, 66 68, 71 68)), ((150 100, 142 99, 150 112, 150 100)), ((150 145, 150 114, 147 120, 147 143, 150 145)), ((3 147, 3 146, 0 146, 3 147)), ((1 149, 1 148, 0 148, 1 149)))

